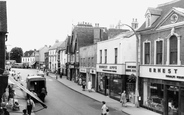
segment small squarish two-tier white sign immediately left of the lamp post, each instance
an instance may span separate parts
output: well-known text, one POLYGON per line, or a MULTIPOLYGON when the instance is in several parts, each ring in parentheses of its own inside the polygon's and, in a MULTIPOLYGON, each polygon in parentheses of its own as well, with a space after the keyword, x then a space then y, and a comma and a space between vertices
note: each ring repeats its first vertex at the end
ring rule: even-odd
POLYGON ((126 63, 126 75, 136 74, 136 63, 126 63))

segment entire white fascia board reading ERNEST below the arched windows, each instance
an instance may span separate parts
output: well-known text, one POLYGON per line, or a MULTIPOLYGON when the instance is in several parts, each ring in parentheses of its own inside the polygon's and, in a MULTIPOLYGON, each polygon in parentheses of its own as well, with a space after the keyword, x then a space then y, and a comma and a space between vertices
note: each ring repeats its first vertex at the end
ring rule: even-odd
POLYGON ((184 81, 184 67, 140 66, 140 77, 184 81))

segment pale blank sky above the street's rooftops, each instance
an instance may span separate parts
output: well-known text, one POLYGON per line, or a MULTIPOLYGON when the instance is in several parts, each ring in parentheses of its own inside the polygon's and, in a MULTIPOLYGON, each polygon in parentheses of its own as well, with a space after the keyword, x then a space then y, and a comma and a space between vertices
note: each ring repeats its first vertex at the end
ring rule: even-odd
POLYGON ((172 0, 5 0, 7 3, 8 51, 23 52, 54 45, 71 35, 78 22, 109 28, 119 21, 131 25, 145 21, 148 7, 172 0))

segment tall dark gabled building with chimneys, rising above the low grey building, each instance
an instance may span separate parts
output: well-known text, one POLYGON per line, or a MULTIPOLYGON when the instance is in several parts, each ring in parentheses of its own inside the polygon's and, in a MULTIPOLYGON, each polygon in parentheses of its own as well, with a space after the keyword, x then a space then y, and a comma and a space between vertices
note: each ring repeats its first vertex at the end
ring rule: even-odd
POLYGON ((67 78, 77 82, 79 76, 79 48, 107 39, 104 27, 93 27, 88 23, 74 26, 67 40, 67 78))

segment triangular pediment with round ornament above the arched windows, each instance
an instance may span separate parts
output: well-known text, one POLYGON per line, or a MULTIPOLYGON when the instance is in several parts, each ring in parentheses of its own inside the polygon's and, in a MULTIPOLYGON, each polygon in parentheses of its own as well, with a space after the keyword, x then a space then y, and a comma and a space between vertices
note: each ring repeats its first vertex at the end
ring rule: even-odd
POLYGON ((179 9, 173 8, 172 10, 170 10, 170 12, 160 20, 156 28, 165 28, 167 26, 169 27, 171 25, 184 23, 184 10, 182 11, 179 9))

